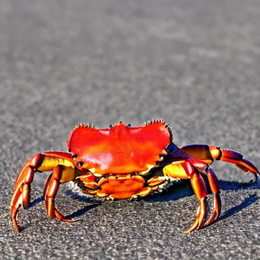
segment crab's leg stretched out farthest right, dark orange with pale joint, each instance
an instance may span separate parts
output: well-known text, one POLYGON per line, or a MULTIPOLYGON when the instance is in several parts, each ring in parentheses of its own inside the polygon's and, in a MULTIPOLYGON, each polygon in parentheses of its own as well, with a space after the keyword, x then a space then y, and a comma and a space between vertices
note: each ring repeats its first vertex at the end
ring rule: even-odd
POLYGON ((233 150, 221 149, 217 146, 203 144, 187 145, 180 149, 194 158, 205 161, 207 164, 212 164, 214 160, 222 160, 235 164, 240 170, 254 174, 255 180, 250 183, 257 182, 257 174, 260 174, 257 168, 249 160, 245 159, 241 153, 233 150))

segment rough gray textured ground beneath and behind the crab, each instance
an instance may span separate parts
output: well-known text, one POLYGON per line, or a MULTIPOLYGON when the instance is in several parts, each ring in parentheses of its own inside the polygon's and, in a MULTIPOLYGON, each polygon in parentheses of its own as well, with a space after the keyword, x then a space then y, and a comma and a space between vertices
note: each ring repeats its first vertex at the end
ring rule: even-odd
MULTIPOLYGON (((32 155, 65 150, 75 124, 164 118, 174 142, 216 144, 260 167, 259 1, 1 1, 0 257, 26 259, 256 259, 259 186, 214 164, 220 220, 183 234, 198 202, 188 183, 142 201, 75 200, 9 213, 15 178, 32 155), (229 182, 231 181, 231 182, 229 182), (92 206, 91 206, 92 205, 92 206)), ((32 200, 47 175, 35 177, 32 200)), ((39 200, 38 200, 39 201, 39 200)))

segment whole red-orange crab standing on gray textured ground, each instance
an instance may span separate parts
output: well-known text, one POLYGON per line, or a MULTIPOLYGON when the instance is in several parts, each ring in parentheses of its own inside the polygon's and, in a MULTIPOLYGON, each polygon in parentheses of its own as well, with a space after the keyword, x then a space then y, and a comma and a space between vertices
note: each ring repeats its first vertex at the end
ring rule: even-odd
POLYGON ((122 121, 105 129, 80 124, 67 141, 68 152, 50 151, 31 157, 22 167, 11 201, 11 217, 19 232, 17 213, 30 204, 34 174, 52 171, 44 186, 44 201, 50 218, 73 222, 55 207, 61 183, 75 182, 83 192, 107 199, 137 199, 167 189, 179 179, 190 179, 200 204, 192 226, 186 233, 201 229, 218 219, 221 212, 218 179, 210 165, 214 160, 235 164, 246 173, 259 171, 239 152, 217 146, 173 143, 172 128, 165 120, 147 121, 131 127, 122 121), (208 179, 210 192, 204 181, 208 179), (213 194, 209 208, 208 194, 213 194))

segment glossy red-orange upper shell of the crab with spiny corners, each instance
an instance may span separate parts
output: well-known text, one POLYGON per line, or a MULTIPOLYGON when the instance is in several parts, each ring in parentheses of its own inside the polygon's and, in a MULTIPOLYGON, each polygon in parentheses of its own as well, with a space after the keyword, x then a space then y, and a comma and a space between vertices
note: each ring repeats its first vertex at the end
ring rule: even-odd
POLYGON ((143 172, 156 166, 171 138, 171 128, 163 120, 139 127, 119 122, 105 129, 82 124, 72 131, 68 149, 77 154, 76 164, 82 161, 82 168, 95 168, 95 173, 143 172))

